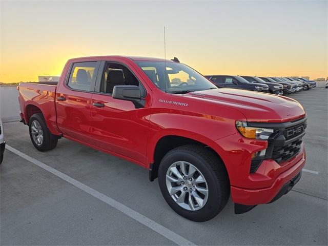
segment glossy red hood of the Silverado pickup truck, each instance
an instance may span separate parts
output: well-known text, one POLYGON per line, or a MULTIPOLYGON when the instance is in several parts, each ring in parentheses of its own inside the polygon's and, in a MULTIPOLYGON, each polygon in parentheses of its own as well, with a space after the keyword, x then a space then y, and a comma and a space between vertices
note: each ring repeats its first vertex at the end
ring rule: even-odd
POLYGON ((253 122, 285 122, 305 116, 305 110, 298 101, 268 93, 222 88, 190 92, 183 96, 236 109, 253 122))

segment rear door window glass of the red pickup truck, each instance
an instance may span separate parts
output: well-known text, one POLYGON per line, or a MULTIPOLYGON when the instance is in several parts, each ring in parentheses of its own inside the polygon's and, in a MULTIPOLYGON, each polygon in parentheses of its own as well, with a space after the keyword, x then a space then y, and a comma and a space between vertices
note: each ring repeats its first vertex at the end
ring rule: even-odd
POLYGON ((96 61, 74 63, 68 86, 74 90, 90 91, 91 82, 96 79, 96 61))

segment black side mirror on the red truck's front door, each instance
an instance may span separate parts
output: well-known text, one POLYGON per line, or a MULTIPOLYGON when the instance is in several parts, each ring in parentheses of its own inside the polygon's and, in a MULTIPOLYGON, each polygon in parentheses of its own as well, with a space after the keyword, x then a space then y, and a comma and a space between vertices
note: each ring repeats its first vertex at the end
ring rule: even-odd
POLYGON ((136 108, 143 108, 145 100, 141 99, 141 91, 137 86, 114 86, 113 98, 132 101, 136 108))

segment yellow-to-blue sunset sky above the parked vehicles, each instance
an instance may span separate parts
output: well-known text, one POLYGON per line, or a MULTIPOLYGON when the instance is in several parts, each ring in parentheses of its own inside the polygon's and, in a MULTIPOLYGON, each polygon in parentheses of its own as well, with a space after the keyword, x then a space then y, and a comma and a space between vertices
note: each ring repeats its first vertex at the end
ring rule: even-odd
POLYGON ((327 77, 328 1, 1 1, 0 82, 92 55, 176 56, 202 74, 327 77))

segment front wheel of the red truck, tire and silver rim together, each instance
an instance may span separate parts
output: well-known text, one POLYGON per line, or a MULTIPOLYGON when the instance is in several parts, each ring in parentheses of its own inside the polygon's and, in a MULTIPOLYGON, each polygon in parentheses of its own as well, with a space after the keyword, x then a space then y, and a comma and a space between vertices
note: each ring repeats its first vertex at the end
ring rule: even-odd
POLYGON ((169 206, 193 221, 207 221, 226 206, 227 170, 210 150, 196 145, 175 148, 160 162, 158 182, 169 206))

